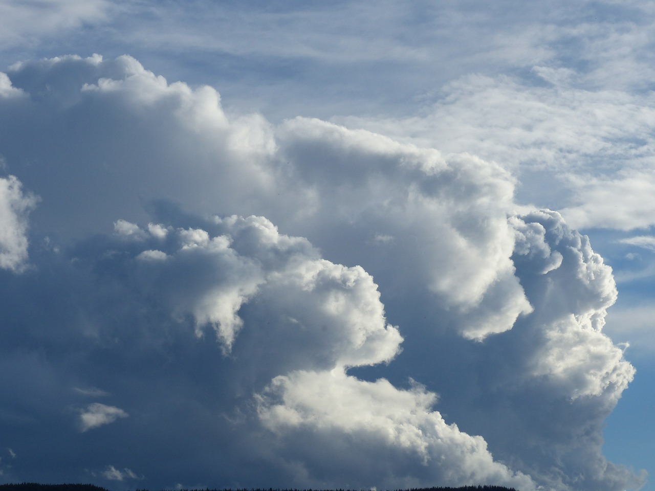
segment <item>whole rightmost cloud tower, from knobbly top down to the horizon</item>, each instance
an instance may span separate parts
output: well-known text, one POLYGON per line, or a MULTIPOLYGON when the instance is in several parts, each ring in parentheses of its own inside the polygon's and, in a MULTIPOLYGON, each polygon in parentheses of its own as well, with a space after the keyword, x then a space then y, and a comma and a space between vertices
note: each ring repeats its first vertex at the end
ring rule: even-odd
POLYGON ((635 373, 602 333, 616 300, 611 269, 559 213, 533 212, 511 222, 516 274, 534 310, 502 335, 504 348, 500 339, 489 348, 484 366, 492 374, 479 403, 485 401, 495 423, 485 438, 497 458, 554 488, 639 486, 601 455, 603 420, 635 373), (552 465, 562 462, 563 474, 553 475, 552 465), (573 468, 584 477, 571 478, 573 468))

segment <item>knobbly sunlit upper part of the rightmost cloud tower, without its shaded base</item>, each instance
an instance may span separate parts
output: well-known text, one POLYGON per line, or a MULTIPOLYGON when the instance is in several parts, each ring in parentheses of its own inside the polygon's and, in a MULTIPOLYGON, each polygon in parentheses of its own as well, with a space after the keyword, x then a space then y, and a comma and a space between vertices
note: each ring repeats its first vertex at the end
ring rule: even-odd
MULTIPOLYGON (((551 249, 538 272, 538 283, 551 286, 540 289, 534 300, 537 325, 546 327, 544 342, 534 354, 534 376, 564 384, 562 389, 571 399, 586 395, 618 399, 634 369, 623 359, 622 350, 601 333, 606 309, 617 296, 611 269, 592 251, 589 239, 572 232, 559 214, 532 213, 523 220, 533 229, 540 228, 540 244, 533 248, 539 254, 551 249)), ((519 241, 515 259, 519 263, 522 247, 519 241)), ((522 276, 526 285, 531 283, 529 276, 522 276)))

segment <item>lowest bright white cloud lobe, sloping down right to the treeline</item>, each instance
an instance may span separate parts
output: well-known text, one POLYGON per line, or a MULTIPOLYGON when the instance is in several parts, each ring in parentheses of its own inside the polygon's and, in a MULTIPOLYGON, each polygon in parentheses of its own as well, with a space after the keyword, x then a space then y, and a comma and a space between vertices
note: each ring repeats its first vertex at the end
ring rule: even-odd
POLYGON ((384 379, 364 382, 339 369, 299 371, 274 378, 258 397, 258 412, 265 426, 294 441, 282 452, 302 458, 325 482, 339 473, 351 487, 485 482, 535 488, 526 475, 494 462, 482 437, 447 425, 430 409, 435 400, 420 386, 398 390, 384 379), (324 458, 326 447, 336 458, 324 458))

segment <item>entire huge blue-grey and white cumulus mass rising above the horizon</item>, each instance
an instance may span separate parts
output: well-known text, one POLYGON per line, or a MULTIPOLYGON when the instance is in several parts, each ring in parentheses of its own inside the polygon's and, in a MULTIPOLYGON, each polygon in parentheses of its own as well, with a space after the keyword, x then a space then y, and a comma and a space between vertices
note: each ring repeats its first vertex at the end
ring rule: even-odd
POLYGON ((0 109, 1 479, 641 482, 601 454, 611 270, 500 166, 129 56, 16 64, 0 109))

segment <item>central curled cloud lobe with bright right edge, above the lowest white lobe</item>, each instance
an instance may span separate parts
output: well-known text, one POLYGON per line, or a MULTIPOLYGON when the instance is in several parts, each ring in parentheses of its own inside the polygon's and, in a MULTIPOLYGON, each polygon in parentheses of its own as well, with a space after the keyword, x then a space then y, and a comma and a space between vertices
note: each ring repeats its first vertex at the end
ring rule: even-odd
MULTIPOLYGON (((270 346, 271 363, 283 354, 298 363, 300 352, 310 365, 296 367, 307 369, 321 363, 373 365, 398 353, 402 337, 386 325, 377 285, 361 267, 320 259, 307 240, 280 234, 263 217, 216 217, 214 222, 222 232, 218 236, 178 228, 167 235, 168 244, 159 244, 168 253, 147 249, 136 255, 136 281, 165 297, 174 316, 192 314, 198 336, 212 326, 229 354, 244 327, 239 311, 253 300, 256 305, 246 313, 257 322, 267 319, 267 326, 251 328, 246 342, 258 345, 240 352, 270 346)), ((122 227, 134 242, 143 242, 144 230, 122 227)), ((157 227, 150 228, 163 228, 157 227)), ((151 240, 157 243, 160 236, 151 240)))

